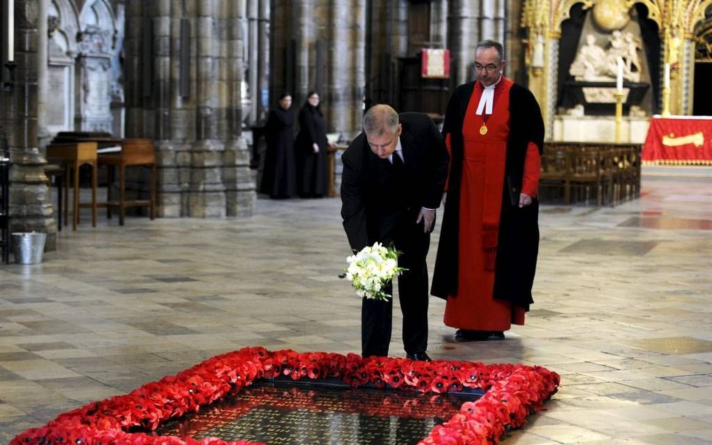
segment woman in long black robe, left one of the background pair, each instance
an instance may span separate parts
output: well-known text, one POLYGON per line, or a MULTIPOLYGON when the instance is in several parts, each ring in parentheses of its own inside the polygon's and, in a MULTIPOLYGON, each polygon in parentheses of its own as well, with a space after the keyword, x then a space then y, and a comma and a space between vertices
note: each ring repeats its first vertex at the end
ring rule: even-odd
POLYGON ((289 109, 292 96, 282 93, 279 106, 269 112, 265 124, 267 152, 262 171, 260 192, 272 199, 287 199, 296 194, 296 164, 294 160, 294 115, 289 109))

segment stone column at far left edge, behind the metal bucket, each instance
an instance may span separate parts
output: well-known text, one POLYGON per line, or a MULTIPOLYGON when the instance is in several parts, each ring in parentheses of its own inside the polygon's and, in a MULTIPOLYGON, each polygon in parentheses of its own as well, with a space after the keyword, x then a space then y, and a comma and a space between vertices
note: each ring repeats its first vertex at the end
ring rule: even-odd
MULTIPOLYGON (((15 83, 0 91, 0 119, 10 148, 10 229, 47 234, 46 250, 56 248, 56 223, 52 218, 46 161, 38 150, 38 26, 46 21, 46 4, 39 0, 15 2, 15 83)), ((5 69, 5 68, 3 68, 5 69)))

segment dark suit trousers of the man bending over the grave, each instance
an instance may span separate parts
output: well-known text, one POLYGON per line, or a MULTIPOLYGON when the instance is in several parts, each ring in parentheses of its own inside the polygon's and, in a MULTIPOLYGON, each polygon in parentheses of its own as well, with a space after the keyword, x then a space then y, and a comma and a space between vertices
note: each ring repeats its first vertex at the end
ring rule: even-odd
MULTIPOLYGON (((425 352, 428 347, 428 266, 430 234, 424 233, 424 223, 415 224, 417 214, 404 211, 386 236, 384 246, 401 251, 398 266, 407 268, 398 278, 398 300, 403 315, 403 346, 409 355, 425 352)), ((386 293, 392 294, 392 284, 386 293)), ((393 300, 364 298, 361 308, 362 355, 387 357, 391 341, 393 300)))

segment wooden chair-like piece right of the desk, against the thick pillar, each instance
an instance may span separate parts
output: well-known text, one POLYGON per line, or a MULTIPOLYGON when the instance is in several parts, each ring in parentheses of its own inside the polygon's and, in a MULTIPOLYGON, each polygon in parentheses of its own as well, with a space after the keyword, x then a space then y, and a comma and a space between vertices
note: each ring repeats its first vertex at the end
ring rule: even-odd
POLYGON ((122 142, 121 151, 99 155, 99 164, 109 167, 108 184, 106 193, 106 215, 111 218, 111 209, 119 209, 119 225, 124 225, 124 215, 127 207, 147 206, 150 219, 156 217, 156 157, 153 151, 153 141, 150 139, 127 139, 122 142), (126 167, 149 167, 149 196, 148 199, 126 199, 126 167), (112 199, 111 187, 114 169, 118 170, 119 197, 112 199))

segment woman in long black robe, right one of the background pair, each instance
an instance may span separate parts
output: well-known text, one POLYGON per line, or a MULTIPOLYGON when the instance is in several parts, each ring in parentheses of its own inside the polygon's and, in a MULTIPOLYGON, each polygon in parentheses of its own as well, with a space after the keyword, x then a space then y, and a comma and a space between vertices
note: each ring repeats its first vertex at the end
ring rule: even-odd
POLYGON ((319 109, 319 95, 311 91, 299 110, 296 153, 299 196, 320 198, 328 192, 326 122, 319 109))

